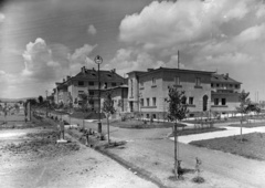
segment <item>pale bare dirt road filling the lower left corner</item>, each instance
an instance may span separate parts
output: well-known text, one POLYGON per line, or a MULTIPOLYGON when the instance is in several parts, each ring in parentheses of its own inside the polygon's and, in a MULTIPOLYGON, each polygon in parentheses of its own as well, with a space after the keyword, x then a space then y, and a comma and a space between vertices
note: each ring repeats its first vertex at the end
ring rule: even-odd
MULTIPOLYGON (((41 129, 7 129, 0 132, 0 148, 29 140, 28 133, 41 129)), ((33 157, 0 149, 0 187, 87 187, 87 188, 156 188, 108 157, 80 145, 67 155, 33 157)))

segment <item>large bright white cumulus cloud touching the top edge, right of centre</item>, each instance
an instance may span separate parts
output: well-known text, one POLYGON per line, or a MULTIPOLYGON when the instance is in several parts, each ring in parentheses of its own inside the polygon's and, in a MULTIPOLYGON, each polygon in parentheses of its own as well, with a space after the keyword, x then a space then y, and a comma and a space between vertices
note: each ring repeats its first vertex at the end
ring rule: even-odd
POLYGON ((244 1, 153 1, 140 13, 126 15, 120 23, 120 40, 146 49, 169 48, 205 40, 211 32, 233 19, 243 19, 248 10, 244 1))

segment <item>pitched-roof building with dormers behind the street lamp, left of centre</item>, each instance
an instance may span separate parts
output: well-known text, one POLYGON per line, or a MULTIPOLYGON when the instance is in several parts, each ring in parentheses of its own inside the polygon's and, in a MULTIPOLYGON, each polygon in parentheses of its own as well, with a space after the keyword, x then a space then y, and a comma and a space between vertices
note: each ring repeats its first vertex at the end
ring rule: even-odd
MULTIPOLYGON (((115 87, 123 85, 125 79, 118 75, 114 70, 99 72, 99 87, 100 90, 106 90, 109 87, 115 87)), ((75 106, 82 104, 82 98, 80 94, 86 93, 88 97, 93 101, 92 105, 96 109, 98 108, 98 71, 95 69, 87 70, 85 66, 81 67, 81 72, 75 76, 67 76, 63 83, 56 83, 55 91, 55 103, 67 103, 70 96, 75 106)))

